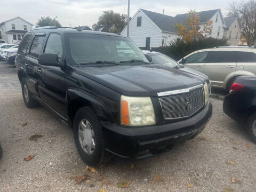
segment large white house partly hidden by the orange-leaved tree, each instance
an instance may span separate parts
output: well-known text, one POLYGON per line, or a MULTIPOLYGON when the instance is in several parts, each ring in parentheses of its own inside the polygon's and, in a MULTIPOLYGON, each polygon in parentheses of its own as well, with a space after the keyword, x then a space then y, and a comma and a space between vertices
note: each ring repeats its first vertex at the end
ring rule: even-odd
MULTIPOLYGON (((199 26, 204 27, 208 20, 212 20, 211 37, 223 38, 226 23, 220 9, 197 12, 200 17, 199 26)), ((129 36, 139 47, 166 46, 172 39, 178 38, 178 31, 175 25, 185 23, 188 17, 186 14, 178 14, 175 17, 139 9, 130 21, 129 36)), ((127 26, 122 30, 122 35, 127 34, 127 26)))

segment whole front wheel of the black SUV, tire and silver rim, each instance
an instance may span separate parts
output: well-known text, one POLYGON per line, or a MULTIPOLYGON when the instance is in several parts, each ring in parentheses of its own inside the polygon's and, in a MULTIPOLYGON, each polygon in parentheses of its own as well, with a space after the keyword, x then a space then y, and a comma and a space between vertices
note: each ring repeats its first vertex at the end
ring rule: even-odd
POLYGON ((100 120, 90 107, 77 110, 73 128, 76 148, 83 161, 89 166, 97 166, 105 162, 105 142, 100 120), (87 143, 90 144, 87 145, 87 143))

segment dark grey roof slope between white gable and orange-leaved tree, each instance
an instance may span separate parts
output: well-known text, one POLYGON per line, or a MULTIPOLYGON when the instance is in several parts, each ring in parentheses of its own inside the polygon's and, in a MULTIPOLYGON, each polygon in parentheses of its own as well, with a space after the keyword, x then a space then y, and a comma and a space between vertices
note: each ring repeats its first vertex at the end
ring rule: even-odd
POLYGON ((143 9, 141 9, 141 11, 145 13, 148 18, 153 21, 162 31, 178 33, 178 31, 175 29, 175 25, 182 22, 182 20, 179 18, 143 9))

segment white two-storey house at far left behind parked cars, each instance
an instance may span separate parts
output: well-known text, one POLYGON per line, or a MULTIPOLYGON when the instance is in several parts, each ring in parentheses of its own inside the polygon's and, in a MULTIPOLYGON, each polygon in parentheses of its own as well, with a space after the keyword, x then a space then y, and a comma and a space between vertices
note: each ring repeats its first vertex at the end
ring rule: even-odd
POLYGON ((0 23, 1 37, 6 43, 19 43, 27 31, 31 30, 32 26, 33 24, 20 17, 3 21, 0 23))

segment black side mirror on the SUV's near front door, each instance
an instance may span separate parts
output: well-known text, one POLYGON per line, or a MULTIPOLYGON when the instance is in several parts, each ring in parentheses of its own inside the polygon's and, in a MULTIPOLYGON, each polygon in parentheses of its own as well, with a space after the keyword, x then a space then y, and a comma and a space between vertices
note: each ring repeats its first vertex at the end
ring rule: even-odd
POLYGON ((38 63, 44 66, 61 67, 58 55, 52 53, 42 53, 38 58, 38 63))

